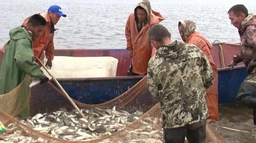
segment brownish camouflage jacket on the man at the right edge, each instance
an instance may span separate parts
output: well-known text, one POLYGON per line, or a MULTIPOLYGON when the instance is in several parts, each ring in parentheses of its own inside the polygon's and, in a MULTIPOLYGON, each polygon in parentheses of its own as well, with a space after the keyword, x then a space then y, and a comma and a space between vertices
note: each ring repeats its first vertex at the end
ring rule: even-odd
POLYGON ((238 30, 241 40, 241 51, 233 57, 234 62, 244 62, 247 73, 256 67, 256 16, 249 14, 242 21, 242 28, 238 30))

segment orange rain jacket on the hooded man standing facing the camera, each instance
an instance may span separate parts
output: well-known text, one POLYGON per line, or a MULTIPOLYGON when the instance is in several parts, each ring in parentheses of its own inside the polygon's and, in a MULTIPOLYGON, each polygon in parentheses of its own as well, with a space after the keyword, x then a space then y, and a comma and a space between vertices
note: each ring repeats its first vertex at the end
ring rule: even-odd
MULTIPOLYGON (((137 4, 142 6, 141 4, 137 4)), ((136 9, 136 8, 135 8, 136 9)), ((151 58, 152 48, 149 41, 149 29, 152 25, 159 23, 165 18, 158 12, 151 10, 151 7, 145 9, 150 11, 150 20, 144 25, 140 32, 137 29, 137 23, 135 21, 135 13, 130 13, 126 22, 126 49, 133 50, 133 73, 144 75, 147 73, 149 59, 151 58)))

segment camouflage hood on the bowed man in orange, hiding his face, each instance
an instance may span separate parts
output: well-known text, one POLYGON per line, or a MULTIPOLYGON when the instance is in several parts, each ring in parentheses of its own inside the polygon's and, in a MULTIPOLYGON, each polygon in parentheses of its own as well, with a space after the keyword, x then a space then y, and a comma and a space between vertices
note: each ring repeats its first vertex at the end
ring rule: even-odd
POLYGON ((187 38, 194 33, 195 29, 196 29, 196 23, 191 21, 191 20, 184 20, 184 21, 179 21, 178 26, 182 27, 182 31, 183 31, 183 36, 185 38, 185 41, 187 40, 187 38))

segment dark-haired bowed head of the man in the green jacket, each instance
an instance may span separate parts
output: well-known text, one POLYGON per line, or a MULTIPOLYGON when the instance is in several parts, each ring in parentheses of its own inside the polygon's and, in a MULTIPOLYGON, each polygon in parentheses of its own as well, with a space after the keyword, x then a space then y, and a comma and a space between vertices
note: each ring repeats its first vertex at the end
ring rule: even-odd
POLYGON ((32 31, 33 38, 36 38, 37 36, 43 34, 46 28, 46 20, 39 14, 34 14, 29 18, 26 28, 32 31))

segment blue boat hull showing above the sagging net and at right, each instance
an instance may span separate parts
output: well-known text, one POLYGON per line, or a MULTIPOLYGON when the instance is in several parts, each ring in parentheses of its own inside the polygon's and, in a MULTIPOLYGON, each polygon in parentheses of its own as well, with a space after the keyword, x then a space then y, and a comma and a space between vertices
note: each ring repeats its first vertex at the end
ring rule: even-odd
MULTIPOLYGON (((235 95, 247 76, 245 66, 218 69, 219 104, 235 103, 235 95)), ((109 78, 58 79, 71 98, 86 104, 110 101, 133 87, 144 76, 119 76, 109 78)), ((50 88, 50 87, 37 87, 50 88)), ((51 89, 52 90, 52 89, 51 89)))

